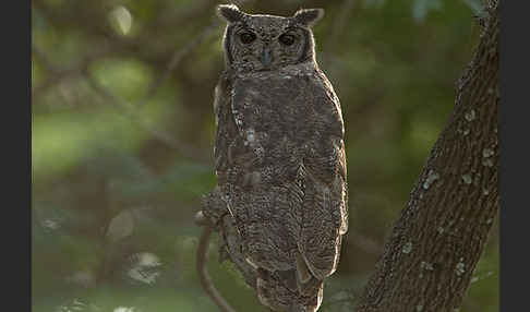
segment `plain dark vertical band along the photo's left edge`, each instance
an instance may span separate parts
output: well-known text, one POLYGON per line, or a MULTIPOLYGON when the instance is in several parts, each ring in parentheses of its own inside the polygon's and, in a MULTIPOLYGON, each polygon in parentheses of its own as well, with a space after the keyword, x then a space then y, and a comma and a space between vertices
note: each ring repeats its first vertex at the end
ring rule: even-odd
POLYGON ((3 310, 31 311, 32 3, 13 1, 2 19, 3 310), (12 4, 12 5, 11 5, 12 4), (12 15, 12 19, 5 16, 12 15), (29 60, 29 61, 28 61, 29 60), (14 292, 14 293, 13 293, 14 292), (22 298, 21 298, 22 297, 22 298), (29 297, 29 298, 28 298, 29 297), (28 300, 29 299, 29 300, 28 300), (11 301, 11 302, 10 302, 11 301), (11 308, 14 307, 14 308, 11 308))

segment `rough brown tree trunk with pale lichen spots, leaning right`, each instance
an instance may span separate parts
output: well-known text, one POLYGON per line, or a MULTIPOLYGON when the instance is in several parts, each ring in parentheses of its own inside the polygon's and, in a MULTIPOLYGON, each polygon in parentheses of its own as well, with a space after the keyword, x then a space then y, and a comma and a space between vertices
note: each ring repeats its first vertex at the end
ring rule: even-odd
POLYGON ((498 1, 358 312, 457 311, 498 212, 498 1))

